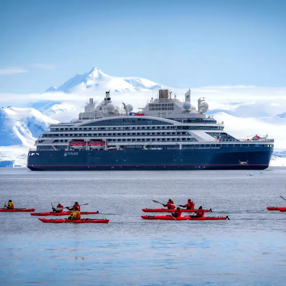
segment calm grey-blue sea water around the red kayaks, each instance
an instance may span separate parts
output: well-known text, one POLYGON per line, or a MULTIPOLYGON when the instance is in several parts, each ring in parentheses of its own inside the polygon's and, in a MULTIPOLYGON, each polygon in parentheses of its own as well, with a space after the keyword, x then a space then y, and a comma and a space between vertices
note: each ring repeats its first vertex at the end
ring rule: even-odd
MULTIPOLYGON (((1 201, 37 212, 89 203, 108 224, 48 224, 0 212, 0 284, 285 285, 286 169, 31 172, 0 169, 1 201), (254 173, 257 173, 254 171, 254 173), (192 198, 229 221, 145 221, 153 199, 192 198)), ((184 215, 184 214, 183 214, 184 215)), ((50 217, 52 218, 52 217, 50 217)))

